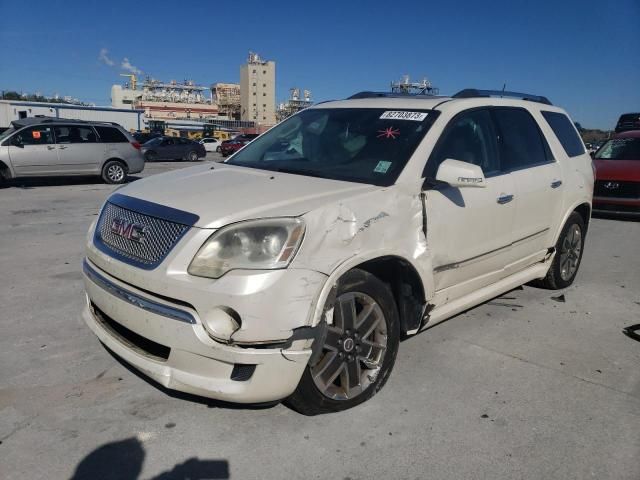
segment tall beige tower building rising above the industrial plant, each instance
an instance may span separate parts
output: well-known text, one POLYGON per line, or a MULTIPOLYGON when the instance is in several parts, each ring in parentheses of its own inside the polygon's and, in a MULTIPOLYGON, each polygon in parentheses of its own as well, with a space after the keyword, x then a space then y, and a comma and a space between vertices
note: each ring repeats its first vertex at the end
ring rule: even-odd
POLYGON ((276 63, 253 52, 240 67, 240 118, 259 130, 276 124, 276 63))

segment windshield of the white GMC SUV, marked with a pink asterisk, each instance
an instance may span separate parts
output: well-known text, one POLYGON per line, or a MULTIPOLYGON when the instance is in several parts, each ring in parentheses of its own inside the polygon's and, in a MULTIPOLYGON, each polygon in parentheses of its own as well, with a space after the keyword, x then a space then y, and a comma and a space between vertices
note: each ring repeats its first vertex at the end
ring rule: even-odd
POLYGON ((429 111, 308 109, 253 140, 227 163, 388 186, 433 117, 429 111))

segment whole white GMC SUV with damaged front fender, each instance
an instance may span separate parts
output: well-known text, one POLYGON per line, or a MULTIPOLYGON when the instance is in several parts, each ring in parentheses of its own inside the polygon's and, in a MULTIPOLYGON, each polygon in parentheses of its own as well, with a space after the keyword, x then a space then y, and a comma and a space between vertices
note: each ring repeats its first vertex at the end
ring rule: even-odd
POLYGON ((363 92, 118 190, 89 231, 84 319, 170 389, 365 401, 401 337, 575 278, 591 159, 563 110, 497 93, 363 92))

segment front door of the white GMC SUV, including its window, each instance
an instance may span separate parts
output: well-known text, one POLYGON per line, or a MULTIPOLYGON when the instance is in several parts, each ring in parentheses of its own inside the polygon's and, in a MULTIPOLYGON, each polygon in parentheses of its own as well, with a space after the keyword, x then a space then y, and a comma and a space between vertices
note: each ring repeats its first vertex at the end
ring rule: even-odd
POLYGON ((485 187, 436 185, 426 191, 427 240, 436 297, 450 301, 505 276, 515 221, 514 181, 500 169, 497 135, 488 109, 454 117, 425 169, 435 178, 446 159, 478 165, 485 187))

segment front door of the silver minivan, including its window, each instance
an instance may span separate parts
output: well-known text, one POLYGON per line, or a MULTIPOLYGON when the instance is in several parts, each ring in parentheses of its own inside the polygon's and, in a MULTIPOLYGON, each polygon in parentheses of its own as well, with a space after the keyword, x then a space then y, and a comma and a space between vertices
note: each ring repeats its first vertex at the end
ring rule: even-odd
POLYGON ((38 125, 24 128, 9 144, 9 158, 17 176, 47 175, 59 169, 53 128, 38 125))

